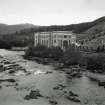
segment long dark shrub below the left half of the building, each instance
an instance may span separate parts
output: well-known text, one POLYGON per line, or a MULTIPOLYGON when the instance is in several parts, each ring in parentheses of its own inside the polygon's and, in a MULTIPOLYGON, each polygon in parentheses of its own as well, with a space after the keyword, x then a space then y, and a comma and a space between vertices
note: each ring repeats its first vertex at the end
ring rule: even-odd
POLYGON ((25 56, 35 56, 42 58, 53 58, 59 60, 63 56, 63 50, 60 47, 48 48, 43 45, 34 47, 30 44, 29 49, 26 51, 25 56))

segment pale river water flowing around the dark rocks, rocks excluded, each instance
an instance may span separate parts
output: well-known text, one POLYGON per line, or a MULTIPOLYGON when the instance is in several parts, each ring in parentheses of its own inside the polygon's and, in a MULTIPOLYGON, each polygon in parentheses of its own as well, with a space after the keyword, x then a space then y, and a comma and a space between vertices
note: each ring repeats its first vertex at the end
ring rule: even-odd
POLYGON ((64 72, 55 71, 51 65, 42 65, 23 59, 21 56, 23 54, 23 51, 0 49, 3 59, 16 62, 31 72, 29 75, 0 74, 0 78, 14 78, 19 84, 17 87, 9 83, 0 84, 2 86, 0 105, 51 105, 46 97, 56 100, 57 105, 105 105, 105 89, 99 87, 97 82, 85 75, 81 78, 69 79, 64 72), (49 73, 46 73, 48 71, 49 73), (66 87, 54 90, 53 88, 58 84, 63 84, 66 87), (45 97, 24 100, 25 95, 29 94, 32 89, 39 89, 45 97), (64 91, 73 91, 78 94, 81 102, 76 103, 66 99, 64 91))

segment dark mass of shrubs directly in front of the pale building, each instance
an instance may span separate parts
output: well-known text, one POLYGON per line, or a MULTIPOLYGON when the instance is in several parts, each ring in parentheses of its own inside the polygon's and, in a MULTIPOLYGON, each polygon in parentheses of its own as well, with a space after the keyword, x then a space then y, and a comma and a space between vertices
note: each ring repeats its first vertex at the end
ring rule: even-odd
POLYGON ((25 55, 32 57, 52 58, 64 63, 66 66, 83 64, 82 54, 75 46, 70 46, 66 49, 66 51, 63 51, 60 47, 48 48, 42 45, 37 45, 36 47, 30 45, 25 55))

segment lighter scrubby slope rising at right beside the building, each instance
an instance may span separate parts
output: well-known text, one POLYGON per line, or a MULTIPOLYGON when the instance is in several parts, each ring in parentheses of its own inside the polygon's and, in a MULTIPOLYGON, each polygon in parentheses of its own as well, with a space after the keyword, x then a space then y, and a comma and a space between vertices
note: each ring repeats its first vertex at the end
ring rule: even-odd
POLYGON ((97 47, 105 45, 105 17, 95 20, 97 24, 89 28, 80 37, 80 40, 84 41, 84 45, 91 47, 97 47))

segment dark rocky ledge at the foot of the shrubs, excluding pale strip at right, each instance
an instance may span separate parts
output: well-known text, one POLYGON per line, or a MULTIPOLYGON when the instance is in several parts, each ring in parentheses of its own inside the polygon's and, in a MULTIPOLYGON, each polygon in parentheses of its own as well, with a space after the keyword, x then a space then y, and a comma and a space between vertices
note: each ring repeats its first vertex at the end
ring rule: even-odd
MULTIPOLYGON (((24 57, 24 56, 23 56, 24 57)), ((25 57, 24 57, 25 58, 25 57)), ((79 65, 65 65, 64 63, 54 60, 53 58, 42 58, 42 57, 31 57, 25 58, 39 64, 49 65, 54 68, 55 71, 60 71, 68 74, 72 77, 81 77, 82 71, 84 71, 84 67, 80 67, 79 65)))

